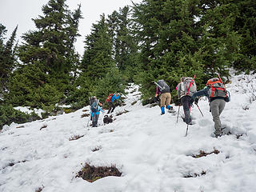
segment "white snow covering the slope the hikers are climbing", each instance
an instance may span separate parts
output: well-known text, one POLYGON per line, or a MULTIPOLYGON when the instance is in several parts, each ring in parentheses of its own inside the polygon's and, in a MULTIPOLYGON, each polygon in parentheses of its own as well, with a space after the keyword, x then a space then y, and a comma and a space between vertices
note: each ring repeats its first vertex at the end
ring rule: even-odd
MULTIPOLYGON (((86 126, 88 117, 81 115, 89 113, 82 111, 89 106, 70 114, 5 126, 0 134, 0 191, 35 191, 44 186, 42 192, 254 192, 256 102, 250 102, 255 93, 250 87, 255 87, 256 76, 242 74, 231 81, 227 85, 231 102, 226 103, 221 115, 222 125, 231 134, 220 138, 212 137, 214 122, 204 98, 198 102, 204 116, 197 106, 192 108, 194 125, 184 137, 186 124, 182 118, 176 123, 177 116, 160 115, 158 106, 142 106, 138 86, 133 84, 127 90, 126 106, 114 111, 129 112, 115 115, 116 120, 106 126, 86 126), (70 141, 74 135, 84 136, 70 141), (96 147, 100 150, 93 152, 96 147), (220 153, 192 157, 200 150, 210 153, 214 149, 220 153), (122 177, 92 183, 75 178, 86 162, 92 166, 115 165, 122 177), (185 178, 194 174, 199 176, 185 178)), ((178 106, 174 109, 178 111, 178 106)), ((101 114, 101 123, 102 118, 101 114)))

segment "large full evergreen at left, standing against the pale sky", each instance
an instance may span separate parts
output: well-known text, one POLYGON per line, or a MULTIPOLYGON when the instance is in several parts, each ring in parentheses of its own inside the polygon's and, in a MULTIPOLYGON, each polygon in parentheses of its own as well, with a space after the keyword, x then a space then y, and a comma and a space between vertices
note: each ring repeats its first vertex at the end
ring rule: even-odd
POLYGON ((82 15, 80 5, 72 12, 65 2, 50 0, 42 6, 43 16, 33 19, 37 30, 23 34, 25 42, 18 48, 22 64, 10 80, 8 102, 36 107, 52 105, 71 89, 79 62, 74 42, 79 36, 82 15))

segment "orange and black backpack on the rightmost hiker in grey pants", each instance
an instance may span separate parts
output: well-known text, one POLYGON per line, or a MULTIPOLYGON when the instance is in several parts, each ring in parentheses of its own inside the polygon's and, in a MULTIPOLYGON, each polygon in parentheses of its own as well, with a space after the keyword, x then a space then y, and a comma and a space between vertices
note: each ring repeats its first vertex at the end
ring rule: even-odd
POLYGON ((226 98, 227 91, 223 82, 219 78, 211 78, 206 83, 206 86, 210 86, 209 97, 210 98, 226 98))

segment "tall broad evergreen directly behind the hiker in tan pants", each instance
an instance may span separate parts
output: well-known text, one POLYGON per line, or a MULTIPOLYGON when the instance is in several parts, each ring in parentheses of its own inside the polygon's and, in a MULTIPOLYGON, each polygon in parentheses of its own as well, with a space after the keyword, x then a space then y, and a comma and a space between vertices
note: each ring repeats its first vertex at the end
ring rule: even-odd
POLYGON ((181 76, 204 76, 196 2, 144 0, 134 5, 134 30, 141 40, 137 82, 142 85, 142 98, 152 96, 152 81, 157 79, 165 79, 174 90, 181 76))

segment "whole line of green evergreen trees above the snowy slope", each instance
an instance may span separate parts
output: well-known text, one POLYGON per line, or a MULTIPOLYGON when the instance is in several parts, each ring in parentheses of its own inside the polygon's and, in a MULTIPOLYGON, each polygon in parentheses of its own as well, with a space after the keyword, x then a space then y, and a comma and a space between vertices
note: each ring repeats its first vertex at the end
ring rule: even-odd
POLYGON ((15 117, 12 106, 50 111, 56 103, 78 109, 92 95, 125 94, 127 82, 140 85, 146 103, 160 78, 174 90, 181 76, 196 74, 203 85, 216 73, 229 78, 230 67, 255 71, 255 14, 254 0, 143 0, 102 14, 79 55, 81 5, 69 10, 66 0, 50 0, 20 45, 18 27, 6 40, 0 23, 0 111, 15 117))

